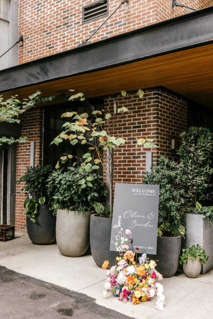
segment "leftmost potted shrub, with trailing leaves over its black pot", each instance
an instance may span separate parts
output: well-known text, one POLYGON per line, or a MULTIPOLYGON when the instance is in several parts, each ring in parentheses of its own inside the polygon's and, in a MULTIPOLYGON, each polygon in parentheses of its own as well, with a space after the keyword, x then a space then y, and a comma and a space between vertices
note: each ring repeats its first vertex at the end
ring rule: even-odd
POLYGON ((24 183, 27 233, 37 245, 51 244, 56 239, 56 216, 51 210, 52 193, 47 194, 46 181, 52 172, 51 165, 27 168, 19 179, 24 183))

